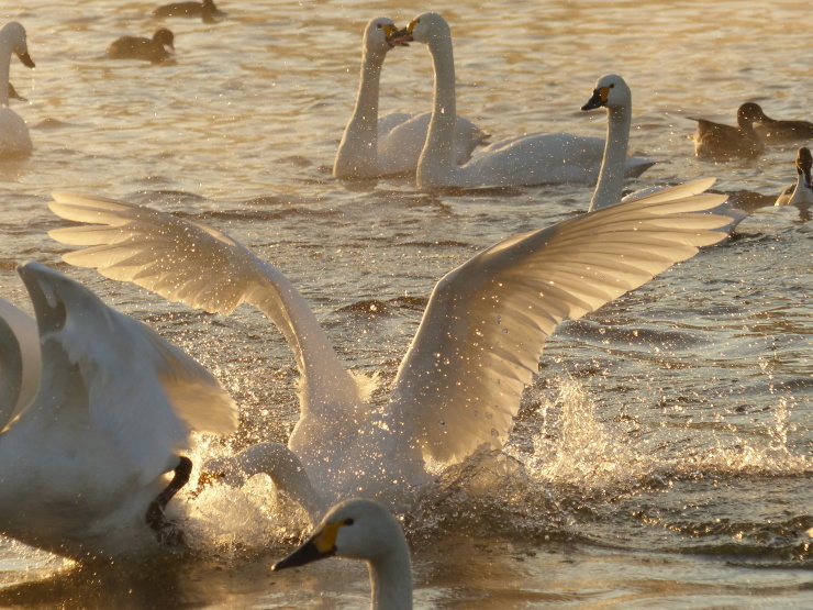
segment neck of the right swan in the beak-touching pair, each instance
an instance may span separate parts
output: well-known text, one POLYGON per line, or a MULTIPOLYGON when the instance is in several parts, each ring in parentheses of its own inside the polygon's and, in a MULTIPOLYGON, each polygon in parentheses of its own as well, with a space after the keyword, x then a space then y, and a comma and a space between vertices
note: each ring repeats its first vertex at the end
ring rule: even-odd
MULTIPOLYGON (((453 149, 457 108, 455 100, 455 56, 450 36, 435 36, 428 43, 435 71, 435 93, 426 143, 417 173, 454 167, 453 149)), ((420 176, 419 176, 420 182, 420 176)))

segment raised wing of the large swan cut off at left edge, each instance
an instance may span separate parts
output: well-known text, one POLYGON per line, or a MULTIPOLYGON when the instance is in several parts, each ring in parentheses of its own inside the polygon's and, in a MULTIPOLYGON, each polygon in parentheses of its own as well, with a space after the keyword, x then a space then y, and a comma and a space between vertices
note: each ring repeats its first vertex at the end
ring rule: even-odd
POLYGON ((167 470, 187 447, 190 430, 231 434, 237 429, 232 398, 182 350, 44 265, 23 265, 20 275, 42 344, 35 406, 88 409, 90 421, 144 481, 167 470))

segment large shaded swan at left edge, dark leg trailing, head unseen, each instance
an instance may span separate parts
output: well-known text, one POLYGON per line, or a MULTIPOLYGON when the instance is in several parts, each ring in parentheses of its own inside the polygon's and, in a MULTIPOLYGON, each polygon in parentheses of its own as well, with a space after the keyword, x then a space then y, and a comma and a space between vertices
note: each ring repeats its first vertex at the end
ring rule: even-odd
POLYGON ((74 559, 177 540, 164 508, 191 470, 180 452, 191 430, 232 433, 234 402, 190 356, 80 284, 33 262, 18 271, 42 373, 16 410, 21 345, 0 319, 0 534, 74 559))

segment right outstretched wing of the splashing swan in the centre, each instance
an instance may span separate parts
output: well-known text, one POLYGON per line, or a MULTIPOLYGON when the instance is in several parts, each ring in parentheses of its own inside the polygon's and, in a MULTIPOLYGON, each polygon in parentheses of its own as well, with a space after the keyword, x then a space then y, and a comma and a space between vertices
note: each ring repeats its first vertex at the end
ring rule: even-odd
MULTIPOLYGON (((695 185, 697 186, 697 185, 695 185)), ((706 182, 706 186, 708 182, 706 182)), ((435 287, 396 379, 396 421, 416 421, 424 455, 456 462, 500 447, 545 340, 701 246, 731 219, 694 213, 725 196, 677 187, 510 237, 435 287)))

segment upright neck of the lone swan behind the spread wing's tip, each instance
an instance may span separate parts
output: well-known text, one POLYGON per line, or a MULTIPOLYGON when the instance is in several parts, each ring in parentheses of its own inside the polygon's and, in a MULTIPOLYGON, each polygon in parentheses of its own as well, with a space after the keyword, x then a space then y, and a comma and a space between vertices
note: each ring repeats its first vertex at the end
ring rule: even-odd
POLYGON ((599 181, 595 185, 589 211, 621 201, 621 193, 624 190, 624 169, 626 167, 626 149, 630 144, 632 113, 630 104, 608 108, 604 159, 601 164, 599 181))

